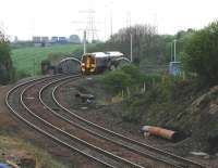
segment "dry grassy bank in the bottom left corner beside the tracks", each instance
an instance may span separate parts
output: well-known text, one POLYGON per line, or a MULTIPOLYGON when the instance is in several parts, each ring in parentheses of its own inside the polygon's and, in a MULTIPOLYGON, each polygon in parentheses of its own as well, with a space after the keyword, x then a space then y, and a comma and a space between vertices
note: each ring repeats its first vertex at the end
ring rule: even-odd
MULTIPOLYGON (((33 160, 29 167, 47 167, 47 168, 66 168, 66 166, 57 161, 44 150, 17 139, 17 137, 9 137, 0 134, 0 156, 1 163, 21 164, 22 156, 33 160), (35 163, 35 164, 34 164, 35 163), (34 166, 35 165, 35 166, 34 166)), ((25 166, 26 167, 26 166, 25 166)))

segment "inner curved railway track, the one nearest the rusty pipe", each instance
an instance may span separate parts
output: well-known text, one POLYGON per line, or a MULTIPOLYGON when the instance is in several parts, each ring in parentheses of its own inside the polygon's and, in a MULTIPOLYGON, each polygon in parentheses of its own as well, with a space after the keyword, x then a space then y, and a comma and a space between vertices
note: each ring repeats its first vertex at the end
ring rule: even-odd
MULTIPOLYGON (((128 137, 124 137, 123 134, 117 133, 107 128, 98 126, 98 125, 96 125, 92 121, 88 121, 85 118, 76 115, 73 111, 68 109, 61 103, 59 103, 58 99, 56 98, 57 90, 66 82, 69 82, 69 81, 63 81, 62 83, 59 83, 53 89, 52 99, 56 102, 56 104, 68 114, 68 115, 65 115, 65 118, 70 118, 71 124, 72 124, 72 120, 76 119, 76 124, 80 124, 77 127, 80 127, 81 129, 84 129, 101 139, 106 139, 108 141, 111 141, 113 143, 122 145, 123 147, 125 147, 130 151, 133 151, 140 155, 143 155, 145 157, 152 158, 157 161, 168 164, 172 167, 209 168, 209 166, 202 165, 199 163, 195 163, 195 161, 186 159, 184 157, 174 155, 172 153, 159 150, 152 145, 144 144, 142 142, 135 141, 128 137)), ((75 122, 73 122, 73 124, 75 124, 75 122)))

